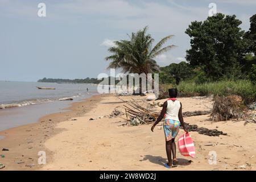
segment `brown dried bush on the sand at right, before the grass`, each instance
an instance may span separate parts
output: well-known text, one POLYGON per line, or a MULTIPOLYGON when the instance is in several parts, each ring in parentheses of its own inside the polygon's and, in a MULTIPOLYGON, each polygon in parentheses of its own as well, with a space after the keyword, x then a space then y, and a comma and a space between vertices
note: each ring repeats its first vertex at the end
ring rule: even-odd
POLYGON ((246 106, 242 104, 242 97, 236 95, 215 96, 213 100, 212 121, 245 118, 246 106))

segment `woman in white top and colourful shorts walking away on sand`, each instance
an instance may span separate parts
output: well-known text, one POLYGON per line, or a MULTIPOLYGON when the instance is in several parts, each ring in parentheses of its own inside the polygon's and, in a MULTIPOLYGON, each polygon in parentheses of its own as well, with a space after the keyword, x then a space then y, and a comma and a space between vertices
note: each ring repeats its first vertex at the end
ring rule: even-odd
POLYGON ((166 137, 166 154, 168 158, 168 163, 164 164, 164 167, 171 168, 177 165, 178 161, 176 158, 176 144, 175 137, 179 133, 180 123, 186 133, 188 130, 184 126, 184 121, 182 117, 182 105, 181 102, 177 100, 177 89, 169 89, 170 98, 164 102, 163 109, 151 127, 151 131, 154 131, 155 126, 164 118, 163 129, 164 135, 166 137), (173 161, 172 161, 173 157, 173 161))

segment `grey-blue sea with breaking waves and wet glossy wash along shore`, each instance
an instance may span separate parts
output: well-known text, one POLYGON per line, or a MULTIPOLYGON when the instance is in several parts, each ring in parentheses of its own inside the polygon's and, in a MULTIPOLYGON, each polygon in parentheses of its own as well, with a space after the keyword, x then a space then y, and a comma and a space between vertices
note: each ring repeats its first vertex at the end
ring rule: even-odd
POLYGON ((0 131, 37 122, 44 115, 64 111, 73 102, 95 94, 97 86, 90 84, 0 81, 0 131), (40 90, 36 86, 56 89, 40 90), (72 97, 73 101, 59 101, 65 97, 72 97))

